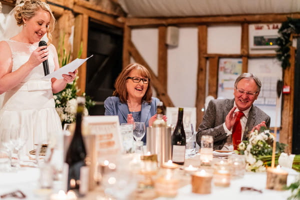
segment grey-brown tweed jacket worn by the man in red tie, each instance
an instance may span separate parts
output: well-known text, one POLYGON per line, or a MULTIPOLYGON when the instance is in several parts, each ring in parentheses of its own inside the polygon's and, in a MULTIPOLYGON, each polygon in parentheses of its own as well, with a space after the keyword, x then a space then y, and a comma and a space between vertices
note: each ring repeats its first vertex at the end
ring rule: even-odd
MULTIPOLYGON (((200 146, 202 135, 212 135, 213 149, 221 149, 223 147, 228 137, 223 128, 223 123, 225 122, 226 115, 233 107, 233 103, 234 99, 213 99, 209 101, 202 122, 199 125, 198 132, 196 134, 196 141, 200 146)), ((265 121, 267 128, 269 128, 270 116, 257 106, 252 105, 251 109, 249 110, 242 140, 247 140, 249 131, 251 131, 251 129, 261 121, 265 121)))

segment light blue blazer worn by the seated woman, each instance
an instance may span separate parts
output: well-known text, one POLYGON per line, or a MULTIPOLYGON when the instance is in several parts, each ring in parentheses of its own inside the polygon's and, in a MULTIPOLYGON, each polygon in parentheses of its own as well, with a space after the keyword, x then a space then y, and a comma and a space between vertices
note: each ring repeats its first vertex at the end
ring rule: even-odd
MULTIPOLYGON (((150 103, 142 102, 140 112, 140 122, 144 122, 145 126, 149 126, 149 118, 156 114, 156 105, 159 99, 152 97, 150 103)), ((104 101, 105 115, 118 115, 119 122, 127 123, 127 114, 129 114, 129 108, 127 103, 122 103, 117 96, 109 96, 104 101)), ((144 143, 146 142, 146 134, 141 139, 144 143)))

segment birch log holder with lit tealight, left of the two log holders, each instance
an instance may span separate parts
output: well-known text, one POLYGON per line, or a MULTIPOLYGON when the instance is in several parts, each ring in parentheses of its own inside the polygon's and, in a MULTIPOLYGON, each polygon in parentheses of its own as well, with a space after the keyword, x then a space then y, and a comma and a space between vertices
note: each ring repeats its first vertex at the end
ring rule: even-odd
POLYGON ((191 175, 191 191, 194 193, 207 194, 211 192, 212 175, 205 170, 197 171, 191 175))

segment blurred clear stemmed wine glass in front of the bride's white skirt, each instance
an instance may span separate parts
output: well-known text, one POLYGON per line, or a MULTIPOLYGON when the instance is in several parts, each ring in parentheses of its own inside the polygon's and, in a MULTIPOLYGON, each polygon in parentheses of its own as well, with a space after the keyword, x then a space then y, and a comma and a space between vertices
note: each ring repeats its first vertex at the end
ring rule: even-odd
POLYGON ((16 168, 20 168, 20 150, 28 139, 28 132, 24 128, 11 127, 10 139, 14 144, 14 150, 16 151, 16 162, 13 164, 16 168))

